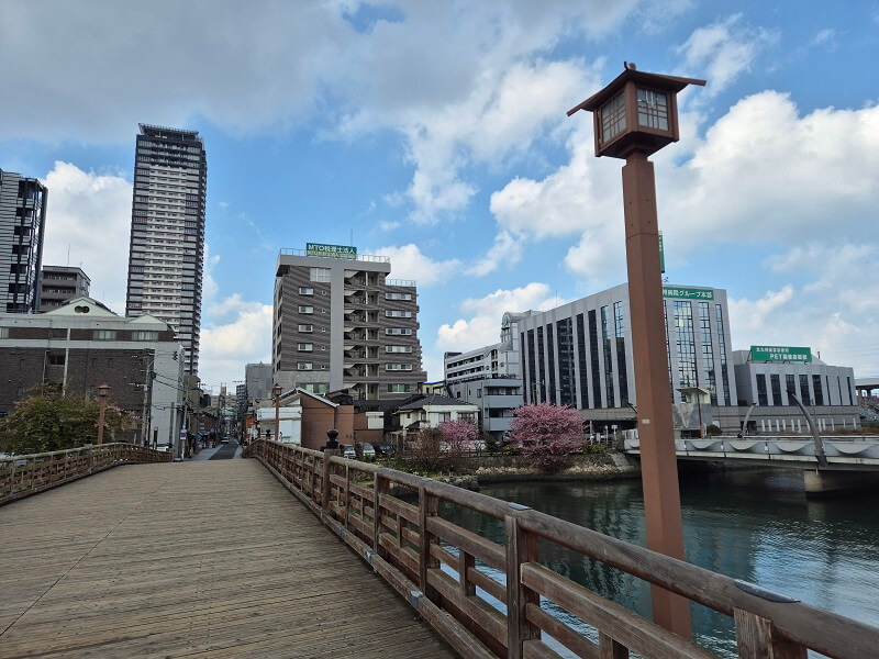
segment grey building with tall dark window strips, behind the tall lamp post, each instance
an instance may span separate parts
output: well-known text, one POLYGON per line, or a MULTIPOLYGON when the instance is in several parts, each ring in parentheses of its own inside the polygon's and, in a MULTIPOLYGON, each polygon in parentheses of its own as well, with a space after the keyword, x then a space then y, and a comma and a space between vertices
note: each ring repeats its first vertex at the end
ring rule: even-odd
MULTIPOLYGON (((701 389, 715 423, 737 429, 726 291, 666 284, 663 295, 665 325, 655 331, 668 347, 669 403, 687 404, 688 392, 701 389)), ((597 432, 635 426, 627 284, 524 317, 520 345, 526 403, 576 407, 597 432)))

